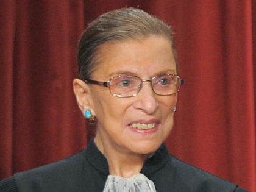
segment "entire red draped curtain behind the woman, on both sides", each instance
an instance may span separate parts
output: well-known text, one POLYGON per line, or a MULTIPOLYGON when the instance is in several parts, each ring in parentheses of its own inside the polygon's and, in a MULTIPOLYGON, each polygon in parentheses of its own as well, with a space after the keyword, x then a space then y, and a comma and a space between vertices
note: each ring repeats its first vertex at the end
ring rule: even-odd
POLYGON ((85 148, 72 90, 77 41, 101 13, 140 7, 176 30, 179 93, 172 154, 256 191, 254 0, 1 0, 0 179, 85 148))

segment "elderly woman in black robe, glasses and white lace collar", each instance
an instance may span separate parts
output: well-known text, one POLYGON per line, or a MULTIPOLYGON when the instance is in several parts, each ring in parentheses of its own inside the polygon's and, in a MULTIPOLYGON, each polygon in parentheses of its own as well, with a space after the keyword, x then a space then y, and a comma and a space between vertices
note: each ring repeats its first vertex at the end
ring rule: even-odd
POLYGON ((140 9, 93 21, 73 87, 95 137, 79 154, 3 180, 0 191, 246 191, 181 162, 164 144, 183 83, 172 34, 140 9))

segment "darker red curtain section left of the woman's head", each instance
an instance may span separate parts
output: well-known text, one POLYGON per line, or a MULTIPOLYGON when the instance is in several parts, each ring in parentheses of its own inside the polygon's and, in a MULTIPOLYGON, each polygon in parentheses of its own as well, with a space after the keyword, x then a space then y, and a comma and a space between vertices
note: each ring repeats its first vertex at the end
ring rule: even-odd
POLYGON ((1 179, 71 155, 87 143, 72 90, 83 1, 3 2, 1 179))

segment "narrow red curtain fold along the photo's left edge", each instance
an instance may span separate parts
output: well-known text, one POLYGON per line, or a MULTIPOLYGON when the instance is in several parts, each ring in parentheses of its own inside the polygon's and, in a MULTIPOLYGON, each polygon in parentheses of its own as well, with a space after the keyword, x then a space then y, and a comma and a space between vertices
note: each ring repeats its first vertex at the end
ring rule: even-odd
POLYGON ((4 1, 0 8, 0 179, 13 172, 13 50, 15 41, 14 1, 4 1))

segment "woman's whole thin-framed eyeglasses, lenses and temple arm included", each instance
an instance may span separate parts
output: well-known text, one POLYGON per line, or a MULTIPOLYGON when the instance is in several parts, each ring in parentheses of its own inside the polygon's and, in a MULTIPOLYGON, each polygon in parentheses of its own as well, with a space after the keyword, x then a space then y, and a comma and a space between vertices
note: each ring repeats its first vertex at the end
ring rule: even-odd
POLYGON ((184 82, 183 79, 176 74, 162 74, 160 76, 152 77, 151 79, 141 79, 137 76, 122 74, 112 77, 107 82, 90 79, 85 79, 84 81, 88 84, 97 84, 108 87, 110 93, 119 98, 137 96, 142 88, 142 83, 144 82, 151 82, 151 87, 155 94, 168 96, 177 93, 184 82))

